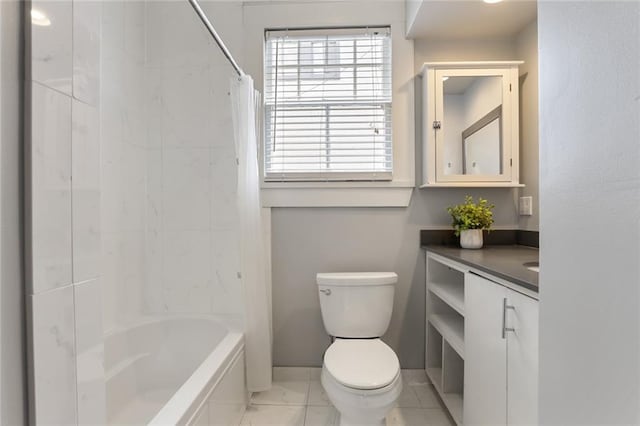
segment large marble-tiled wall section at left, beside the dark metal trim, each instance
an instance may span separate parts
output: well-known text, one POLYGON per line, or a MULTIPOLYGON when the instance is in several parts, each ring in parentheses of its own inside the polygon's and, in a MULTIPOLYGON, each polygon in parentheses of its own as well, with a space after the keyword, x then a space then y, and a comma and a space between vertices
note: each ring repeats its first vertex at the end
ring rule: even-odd
POLYGON ((25 29, 30 420, 100 424, 100 6, 30 6, 49 20, 25 29))

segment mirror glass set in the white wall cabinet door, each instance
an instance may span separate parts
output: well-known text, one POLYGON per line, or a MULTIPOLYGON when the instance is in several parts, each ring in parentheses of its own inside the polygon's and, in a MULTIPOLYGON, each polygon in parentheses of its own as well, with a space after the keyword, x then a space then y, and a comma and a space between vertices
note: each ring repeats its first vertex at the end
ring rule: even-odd
POLYGON ((502 76, 442 76, 444 175, 503 173, 502 76))

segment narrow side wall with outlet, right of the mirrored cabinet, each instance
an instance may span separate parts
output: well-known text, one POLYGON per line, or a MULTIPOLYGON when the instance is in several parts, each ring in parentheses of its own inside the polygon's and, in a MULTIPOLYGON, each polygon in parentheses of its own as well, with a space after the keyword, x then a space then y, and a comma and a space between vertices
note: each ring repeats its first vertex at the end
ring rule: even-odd
POLYGON ((533 21, 516 37, 520 66, 520 188, 521 197, 533 197, 532 215, 520 216, 520 229, 538 231, 540 223, 538 161, 538 21, 533 21))

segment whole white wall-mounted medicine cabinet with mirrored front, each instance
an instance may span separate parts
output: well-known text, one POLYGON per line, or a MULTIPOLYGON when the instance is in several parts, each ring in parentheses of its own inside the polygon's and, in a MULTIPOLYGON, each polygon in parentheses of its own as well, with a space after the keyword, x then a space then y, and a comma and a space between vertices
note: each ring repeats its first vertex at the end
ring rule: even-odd
POLYGON ((519 184, 518 65, 422 68, 422 187, 519 184))

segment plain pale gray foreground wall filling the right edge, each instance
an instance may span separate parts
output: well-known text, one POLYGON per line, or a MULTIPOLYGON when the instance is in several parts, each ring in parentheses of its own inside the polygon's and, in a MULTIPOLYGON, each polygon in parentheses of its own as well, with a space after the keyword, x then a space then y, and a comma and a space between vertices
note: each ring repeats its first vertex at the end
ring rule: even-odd
POLYGON ((540 423, 640 423, 640 3, 540 2, 540 423))

